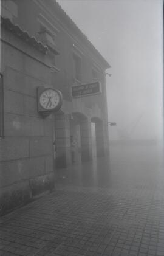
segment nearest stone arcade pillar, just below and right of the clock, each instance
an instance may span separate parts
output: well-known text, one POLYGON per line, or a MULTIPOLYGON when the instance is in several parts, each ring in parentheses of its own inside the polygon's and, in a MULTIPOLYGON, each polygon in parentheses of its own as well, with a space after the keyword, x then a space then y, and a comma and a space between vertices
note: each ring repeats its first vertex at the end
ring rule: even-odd
POLYGON ((66 168, 70 162, 70 115, 55 115, 56 168, 66 168))

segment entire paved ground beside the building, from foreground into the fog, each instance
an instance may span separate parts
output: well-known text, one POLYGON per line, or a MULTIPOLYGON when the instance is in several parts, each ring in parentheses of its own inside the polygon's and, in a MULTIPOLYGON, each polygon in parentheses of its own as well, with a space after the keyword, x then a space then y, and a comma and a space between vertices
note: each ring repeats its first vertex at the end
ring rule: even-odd
POLYGON ((164 256, 157 148, 113 147, 110 157, 61 170, 55 192, 2 217, 0 255, 164 256))

